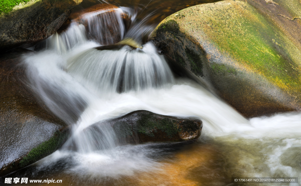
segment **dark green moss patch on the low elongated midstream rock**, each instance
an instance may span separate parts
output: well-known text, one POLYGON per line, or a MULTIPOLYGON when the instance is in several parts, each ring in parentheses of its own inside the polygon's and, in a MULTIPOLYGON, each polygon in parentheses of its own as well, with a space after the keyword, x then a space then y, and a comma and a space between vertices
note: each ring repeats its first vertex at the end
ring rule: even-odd
POLYGON ((153 113, 143 113, 138 120, 137 132, 147 136, 155 137, 154 133, 158 130, 165 132, 172 138, 179 132, 177 121, 169 118, 158 118, 153 113))

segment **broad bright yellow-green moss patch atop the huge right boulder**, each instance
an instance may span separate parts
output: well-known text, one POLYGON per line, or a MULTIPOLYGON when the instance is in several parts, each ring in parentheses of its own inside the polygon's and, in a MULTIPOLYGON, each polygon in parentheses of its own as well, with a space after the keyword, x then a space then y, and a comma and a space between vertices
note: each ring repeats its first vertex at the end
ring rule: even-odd
POLYGON ((301 91, 299 49, 253 6, 245 2, 237 4, 219 3, 220 7, 202 14, 197 26, 219 51, 233 57, 247 71, 264 76, 290 93, 301 91))

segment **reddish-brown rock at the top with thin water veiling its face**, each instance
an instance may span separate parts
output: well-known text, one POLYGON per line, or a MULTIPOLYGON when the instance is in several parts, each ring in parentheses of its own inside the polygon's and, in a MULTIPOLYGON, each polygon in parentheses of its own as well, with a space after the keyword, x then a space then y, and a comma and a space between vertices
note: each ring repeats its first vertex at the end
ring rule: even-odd
POLYGON ((84 25, 88 39, 107 45, 118 43, 131 21, 117 6, 98 4, 72 13, 57 32, 66 31, 71 23, 84 25))

